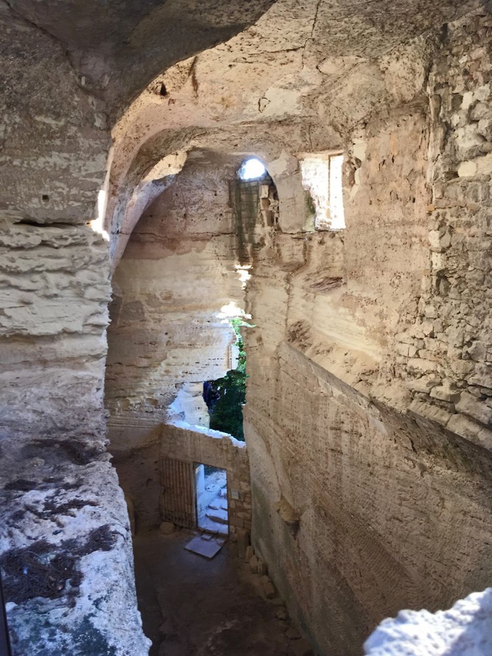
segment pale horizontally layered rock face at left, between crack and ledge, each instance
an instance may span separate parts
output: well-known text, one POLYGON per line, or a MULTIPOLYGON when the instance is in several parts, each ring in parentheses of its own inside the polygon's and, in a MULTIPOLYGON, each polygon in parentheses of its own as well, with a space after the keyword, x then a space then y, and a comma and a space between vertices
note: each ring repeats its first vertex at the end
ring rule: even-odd
POLYGON ((88 226, 3 222, 1 428, 104 442, 108 274, 88 226))

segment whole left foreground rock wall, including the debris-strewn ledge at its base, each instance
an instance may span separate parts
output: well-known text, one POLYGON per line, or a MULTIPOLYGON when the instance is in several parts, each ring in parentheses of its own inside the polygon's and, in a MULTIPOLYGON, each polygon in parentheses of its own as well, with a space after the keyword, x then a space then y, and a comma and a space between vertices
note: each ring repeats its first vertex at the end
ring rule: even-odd
POLYGON ((12 651, 143 655, 127 510, 105 452, 109 249, 89 225, 106 106, 64 45, 10 5, 0 12, 0 567, 12 651))

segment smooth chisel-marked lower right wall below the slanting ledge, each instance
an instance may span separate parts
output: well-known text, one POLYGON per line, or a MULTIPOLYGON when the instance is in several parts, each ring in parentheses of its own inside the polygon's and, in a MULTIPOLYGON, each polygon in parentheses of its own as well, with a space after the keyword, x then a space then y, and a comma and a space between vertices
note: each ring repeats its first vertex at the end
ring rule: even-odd
POLYGON ((321 653, 359 653, 383 617, 483 586, 489 452, 371 404, 291 346, 277 356, 247 398, 253 543, 321 653))

